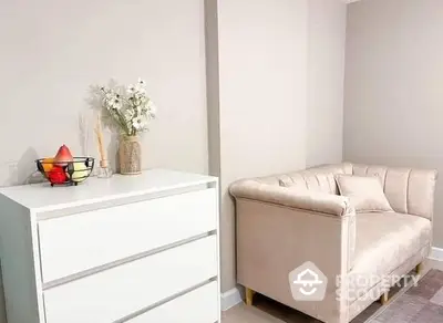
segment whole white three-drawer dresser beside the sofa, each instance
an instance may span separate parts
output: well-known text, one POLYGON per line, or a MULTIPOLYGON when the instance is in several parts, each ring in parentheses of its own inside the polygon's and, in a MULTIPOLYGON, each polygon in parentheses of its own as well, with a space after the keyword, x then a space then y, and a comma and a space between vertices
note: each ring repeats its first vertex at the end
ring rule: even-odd
POLYGON ((8 323, 220 322, 215 177, 2 188, 0 239, 8 323))

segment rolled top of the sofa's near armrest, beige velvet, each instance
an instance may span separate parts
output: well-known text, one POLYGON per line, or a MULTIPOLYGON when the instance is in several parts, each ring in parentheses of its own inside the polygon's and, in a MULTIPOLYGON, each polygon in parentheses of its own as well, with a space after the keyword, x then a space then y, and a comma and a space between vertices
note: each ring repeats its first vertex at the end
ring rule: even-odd
POLYGON ((253 179, 234 183, 229 192, 236 199, 259 200, 288 208, 321 212, 332 216, 346 216, 353 212, 349 198, 309 190, 297 190, 276 185, 261 184, 253 179))

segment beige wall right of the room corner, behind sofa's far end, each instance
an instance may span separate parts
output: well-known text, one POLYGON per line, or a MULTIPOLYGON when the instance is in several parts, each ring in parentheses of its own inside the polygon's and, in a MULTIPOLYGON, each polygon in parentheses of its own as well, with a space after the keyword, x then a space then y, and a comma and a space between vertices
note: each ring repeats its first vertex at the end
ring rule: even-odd
MULTIPOLYGON (((441 0, 348 6, 346 159, 443 173, 442 18, 441 0)), ((434 231, 440 248, 442 194, 440 179, 434 231)))

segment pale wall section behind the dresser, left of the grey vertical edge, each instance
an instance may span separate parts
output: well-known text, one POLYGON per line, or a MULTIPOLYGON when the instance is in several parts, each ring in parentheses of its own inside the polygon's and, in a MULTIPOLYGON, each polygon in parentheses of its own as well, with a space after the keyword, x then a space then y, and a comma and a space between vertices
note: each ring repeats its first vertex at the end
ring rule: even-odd
POLYGON ((89 86, 112 76, 145 77, 158 106, 143 166, 206 173, 203 8, 203 0, 2 2, 0 185, 23 183, 33 160, 62 144, 95 156, 92 137, 83 147, 79 114, 89 110, 89 86))

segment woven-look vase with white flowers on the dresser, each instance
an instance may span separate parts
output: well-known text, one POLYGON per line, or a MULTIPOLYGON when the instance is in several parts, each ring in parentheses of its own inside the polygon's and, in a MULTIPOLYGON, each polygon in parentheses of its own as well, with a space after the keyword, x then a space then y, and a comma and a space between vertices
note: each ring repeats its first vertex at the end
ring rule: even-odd
POLYGON ((146 94, 146 83, 138 79, 135 85, 124 87, 101 87, 105 114, 120 132, 120 173, 142 173, 142 146, 140 134, 148 129, 155 118, 155 106, 146 94))

